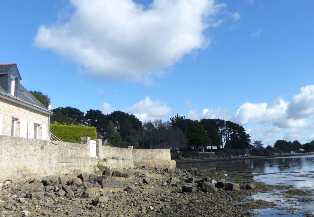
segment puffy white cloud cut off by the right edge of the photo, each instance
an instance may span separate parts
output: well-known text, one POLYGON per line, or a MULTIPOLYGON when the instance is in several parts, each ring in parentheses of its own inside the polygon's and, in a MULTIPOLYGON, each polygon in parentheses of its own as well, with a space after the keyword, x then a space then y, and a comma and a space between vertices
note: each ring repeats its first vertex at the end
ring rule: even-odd
POLYGON ((302 119, 314 115, 314 85, 302 87, 288 106, 289 118, 302 119))

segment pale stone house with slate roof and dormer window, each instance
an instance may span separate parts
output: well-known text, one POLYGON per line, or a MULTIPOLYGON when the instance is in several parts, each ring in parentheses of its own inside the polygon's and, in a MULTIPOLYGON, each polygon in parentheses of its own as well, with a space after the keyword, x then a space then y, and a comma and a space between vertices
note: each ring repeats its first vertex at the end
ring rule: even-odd
POLYGON ((20 81, 16 63, 0 64, 0 135, 48 140, 52 112, 20 81))

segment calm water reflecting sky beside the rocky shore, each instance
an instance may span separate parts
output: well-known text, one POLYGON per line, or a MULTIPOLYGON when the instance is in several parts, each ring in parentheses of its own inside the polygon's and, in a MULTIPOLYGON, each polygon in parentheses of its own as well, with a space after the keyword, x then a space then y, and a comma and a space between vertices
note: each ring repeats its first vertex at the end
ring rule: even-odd
MULTIPOLYGON (((198 163, 177 163, 177 167, 198 167, 199 171, 223 170, 228 172, 245 172, 243 178, 252 178, 271 185, 290 185, 293 188, 312 191, 314 189, 314 155, 241 159, 228 161, 211 161, 198 163)), ((236 180, 234 180, 236 181, 236 180)), ((256 193, 250 198, 274 202, 280 209, 253 210, 259 216, 288 215, 304 216, 304 213, 314 215, 314 196, 295 196, 286 198, 284 191, 256 193), (312 202, 300 202, 302 199, 312 202), (291 211, 291 209, 295 209, 291 211)))

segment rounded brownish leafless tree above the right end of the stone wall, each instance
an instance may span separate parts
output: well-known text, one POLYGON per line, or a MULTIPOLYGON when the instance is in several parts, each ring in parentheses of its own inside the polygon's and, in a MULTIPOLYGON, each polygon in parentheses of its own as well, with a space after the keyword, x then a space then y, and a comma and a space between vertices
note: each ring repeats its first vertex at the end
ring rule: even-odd
POLYGON ((170 145, 172 146, 172 150, 178 150, 181 152, 181 149, 187 147, 187 136, 179 127, 170 127, 168 138, 170 145))

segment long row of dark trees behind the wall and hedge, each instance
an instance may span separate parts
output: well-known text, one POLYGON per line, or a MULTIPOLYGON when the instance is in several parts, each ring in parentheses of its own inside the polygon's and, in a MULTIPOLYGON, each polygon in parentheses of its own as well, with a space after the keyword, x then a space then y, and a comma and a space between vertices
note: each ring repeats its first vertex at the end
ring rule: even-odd
POLYGON ((201 146, 221 148, 251 148, 250 135, 243 126, 223 119, 191 120, 176 114, 170 121, 161 119, 141 122, 133 114, 114 111, 103 114, 90 109, 59 107, 51 110, 51 123, 94 126, 97 137, 112 146, 134 148, 169 148, 198 150, 201 146))

